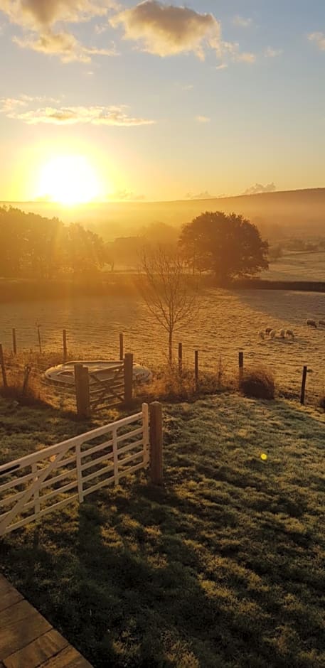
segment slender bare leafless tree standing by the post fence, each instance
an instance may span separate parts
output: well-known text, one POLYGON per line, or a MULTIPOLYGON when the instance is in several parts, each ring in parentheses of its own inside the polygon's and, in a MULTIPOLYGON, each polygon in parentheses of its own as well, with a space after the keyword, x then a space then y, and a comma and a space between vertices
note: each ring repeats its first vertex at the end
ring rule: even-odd
POLYGON ((174 331, 186 325, 196 309, 196 290, 189 278, 178 254, 162 248, 142 252, 139 287, 151 315, 168 333, 169 362, 174 331))

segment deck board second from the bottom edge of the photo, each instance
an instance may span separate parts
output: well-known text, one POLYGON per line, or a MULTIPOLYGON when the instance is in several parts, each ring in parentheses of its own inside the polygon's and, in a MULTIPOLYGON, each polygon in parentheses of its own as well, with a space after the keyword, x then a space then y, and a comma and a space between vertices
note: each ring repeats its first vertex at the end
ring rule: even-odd
POLYGON ((68 647, 68 640, 52 629, 44 633, 29 645, 23 647, 22 650, 14 652, 9 657, 4 659, 5 668, 37 668, 43 664, 47 659, 55 657, 61 650, 68 647))

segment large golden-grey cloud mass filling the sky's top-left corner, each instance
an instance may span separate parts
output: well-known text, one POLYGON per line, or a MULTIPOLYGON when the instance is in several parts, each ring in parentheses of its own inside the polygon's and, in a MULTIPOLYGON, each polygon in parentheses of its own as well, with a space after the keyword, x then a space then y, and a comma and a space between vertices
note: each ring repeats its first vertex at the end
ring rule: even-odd
POLYGON ((88 63, 92 55, 116 55, 114 49, 89 48, 72 33, 53 30, 58 21, 90 21, 95 16, 104 17, 109 9, 117 9, 114 0, 0 0, 0 10, 23 29, 23 36, 14 36, 14 43, 38 53, 58 55, 63 63, 88 63))

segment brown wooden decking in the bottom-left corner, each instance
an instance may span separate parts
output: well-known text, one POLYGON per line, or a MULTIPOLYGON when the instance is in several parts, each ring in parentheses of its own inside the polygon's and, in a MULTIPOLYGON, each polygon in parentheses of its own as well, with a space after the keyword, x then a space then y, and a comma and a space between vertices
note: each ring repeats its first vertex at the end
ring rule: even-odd
POLYGON ((0 668, 92 668, 0 575, 0 668))

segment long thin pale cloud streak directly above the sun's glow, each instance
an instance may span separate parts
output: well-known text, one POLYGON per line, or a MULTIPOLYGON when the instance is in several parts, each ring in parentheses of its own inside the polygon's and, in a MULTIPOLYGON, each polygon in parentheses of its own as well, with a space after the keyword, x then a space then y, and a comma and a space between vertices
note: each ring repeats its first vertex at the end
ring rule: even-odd
MULTIPOLYGON (((39 98, 36 98, 38 101, 39 98)), ((40 107, 38 109, 22 110, 28 107, 27 101, 23 99, 1 99, 0 112, 10 119, 23 121, 28 125, 52 124, 52 125, 110 125, 120 127, 132 127, 139 125, 152 125, 155 121, 144 118, 131 117, 127 114, 127 107, 40 107)), ((35 102, 35 99, 33 100, 35 102)), ((30 106, 30 104, 29 104, 30 106)))

